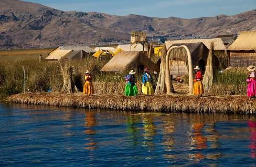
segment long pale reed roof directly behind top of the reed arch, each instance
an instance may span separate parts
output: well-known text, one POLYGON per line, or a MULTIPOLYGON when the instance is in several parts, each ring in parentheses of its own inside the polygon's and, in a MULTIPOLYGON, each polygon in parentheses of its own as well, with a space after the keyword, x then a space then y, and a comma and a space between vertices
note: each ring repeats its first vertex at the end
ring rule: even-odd
POLYGON ((211 42, 214 42, 214 50, 227 50, 226 46, 224 45, 221 38, 211 38, 211 39, 188 39, 188 40, 172 40, 172 41, 165 41, 166 48, 169 49, 171 45, 174 43, 199 43, 202 42, 208 50, 211 49, 211 42))

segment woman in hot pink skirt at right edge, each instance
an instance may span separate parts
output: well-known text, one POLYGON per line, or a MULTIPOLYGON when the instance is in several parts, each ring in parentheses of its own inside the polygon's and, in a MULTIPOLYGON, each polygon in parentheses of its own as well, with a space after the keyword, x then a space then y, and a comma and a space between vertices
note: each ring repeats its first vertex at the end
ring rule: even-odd
POLYGON ((247 67, 248 71, 250 71, 250 75, 248 79, 246 80, 247 85, 247 96, 249 98, 254 98, 256 96, 256 76, 255 76, 255 66, 249 66, 247 67))

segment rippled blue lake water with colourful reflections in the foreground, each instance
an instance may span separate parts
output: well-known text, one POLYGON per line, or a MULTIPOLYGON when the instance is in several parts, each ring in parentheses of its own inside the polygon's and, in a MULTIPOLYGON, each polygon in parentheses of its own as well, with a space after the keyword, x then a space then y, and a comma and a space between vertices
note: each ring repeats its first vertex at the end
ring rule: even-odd
POLYGON ((256 166, 256 118, 0 103, 0 166, 256 166))

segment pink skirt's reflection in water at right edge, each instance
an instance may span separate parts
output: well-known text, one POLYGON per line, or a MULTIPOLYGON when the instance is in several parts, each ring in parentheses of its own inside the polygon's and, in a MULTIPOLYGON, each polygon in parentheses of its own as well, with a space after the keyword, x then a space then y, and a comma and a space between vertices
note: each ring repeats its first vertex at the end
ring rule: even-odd
POLYGON ((250 130, 250 145, 251 158, 256 158, 256 121, 248 121, 248 126, 250 130))

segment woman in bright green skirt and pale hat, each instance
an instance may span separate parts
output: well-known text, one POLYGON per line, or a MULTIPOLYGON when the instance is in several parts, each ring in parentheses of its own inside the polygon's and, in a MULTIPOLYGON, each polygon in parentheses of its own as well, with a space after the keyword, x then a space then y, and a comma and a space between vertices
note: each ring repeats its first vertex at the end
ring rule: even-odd
POLYGON ((131 70, 129 75, 125 76, 125 96, 136 96, 138 94, 138 89, 135 85, 135 73, 135 71, 131 70))

